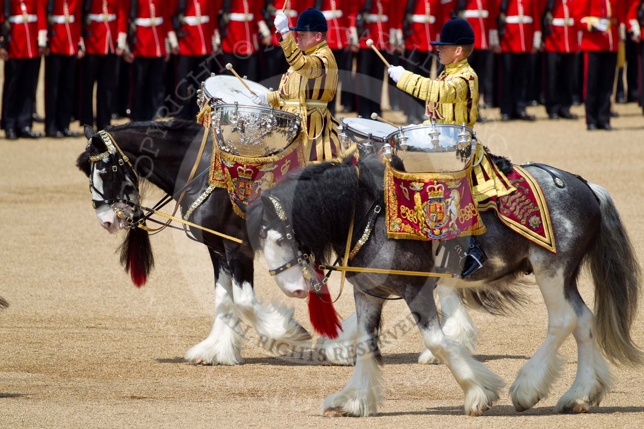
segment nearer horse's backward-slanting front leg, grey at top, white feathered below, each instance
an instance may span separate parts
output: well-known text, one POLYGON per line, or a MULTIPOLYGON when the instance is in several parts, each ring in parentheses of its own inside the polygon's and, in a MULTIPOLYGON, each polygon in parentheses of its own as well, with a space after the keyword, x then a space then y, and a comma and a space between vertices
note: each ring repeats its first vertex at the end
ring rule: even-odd
POLYGON ((422 340, 433 356, 450 369, 465 393, 465 414, 473 417, 481 415, 498 400, 499 392, 506 383, 472 358, 465 347, 442 332, 430 286, 421 289, 417 289, 417 286, 412 289, 410 286, 407 290, 405 300, 421 331, 422 340))

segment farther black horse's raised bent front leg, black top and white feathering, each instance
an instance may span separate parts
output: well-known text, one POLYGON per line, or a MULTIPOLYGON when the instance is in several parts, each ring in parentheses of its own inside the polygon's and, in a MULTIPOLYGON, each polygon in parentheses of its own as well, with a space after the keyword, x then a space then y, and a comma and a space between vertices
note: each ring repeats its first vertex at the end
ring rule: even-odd
POLYGON ((311 335, 293 318, 294 308, 263 306, 252 289, 252 257, 242 252, 227 251, 232 273, 232 297, 240 315, 260 334, 269 351, 305 351, 310 348, 311 335))

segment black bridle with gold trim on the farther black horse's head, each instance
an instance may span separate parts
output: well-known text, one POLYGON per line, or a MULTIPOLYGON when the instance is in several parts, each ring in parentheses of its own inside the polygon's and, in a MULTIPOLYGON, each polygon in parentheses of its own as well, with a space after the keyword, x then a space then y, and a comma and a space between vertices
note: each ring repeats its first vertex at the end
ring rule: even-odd
MULTIPOLYGON (((90 169, 90 192, 93 190, 102 199, 92 199, 91 206, 99 208, 104 205, 109 205, 117 213, 120 219, 125 219, 128 223, 127 228, 134 228, 138 220, 142 217, 140 210, 140 201, 129 198, 125 186, 119 186, 120 183, 132 183, 135 190, 138 190, 138 174, 134 170, 132 163, 129 161, 128 156, 118 147, 114 138, 107 131, 99 131, 97 133, 102 142, 105 144, 107 151, 100 154, 90 155, 91 169, 90 169), (108 161, 108 169, 111 170, 112 178, 112 192, 110 195, 105 195, 94 185, 94 173, 96 170, 96 163, 102 160, 108 161), (132 215, 125 217, 125 212, 117 204, 123 204, 131 209, 132 215)), ((86 149, 91 145, 91 139, 88 141, 86 149)))

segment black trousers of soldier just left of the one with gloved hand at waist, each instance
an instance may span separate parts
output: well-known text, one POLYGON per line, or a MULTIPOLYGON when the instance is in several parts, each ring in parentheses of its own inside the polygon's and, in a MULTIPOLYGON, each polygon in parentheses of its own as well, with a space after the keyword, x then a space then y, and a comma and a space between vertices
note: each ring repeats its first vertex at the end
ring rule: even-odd
POLYGON ((545 52, 545 110, 549 114, 570 111, 577 80, 574 53, 545 52))

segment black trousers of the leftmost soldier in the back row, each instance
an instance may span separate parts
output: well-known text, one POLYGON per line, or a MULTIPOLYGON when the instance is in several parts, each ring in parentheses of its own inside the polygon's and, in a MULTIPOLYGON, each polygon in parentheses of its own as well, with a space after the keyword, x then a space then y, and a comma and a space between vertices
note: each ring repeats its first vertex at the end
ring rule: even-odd
POLYGON ((5 62, 5 85, 2 100, 4 129, 18 130, 32 126, 32 107, 38 84, 41 57, 15 58, 5 62))

